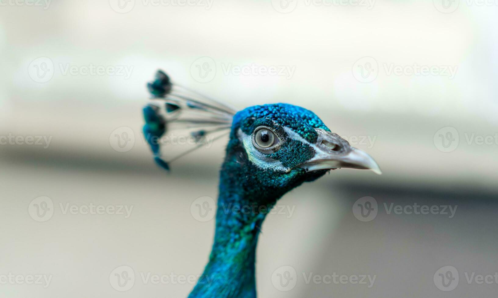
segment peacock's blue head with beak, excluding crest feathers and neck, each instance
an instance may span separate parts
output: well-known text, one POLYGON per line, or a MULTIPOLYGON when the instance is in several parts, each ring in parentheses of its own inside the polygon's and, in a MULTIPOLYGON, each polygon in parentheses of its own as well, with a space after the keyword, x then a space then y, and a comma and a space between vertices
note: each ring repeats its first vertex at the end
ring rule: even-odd
POLYGON ((370 155, 302 107, 258 105, 233 117, 224 169, 245 177, 248 185, 288 191, 337 168, 381 173, 370 155))

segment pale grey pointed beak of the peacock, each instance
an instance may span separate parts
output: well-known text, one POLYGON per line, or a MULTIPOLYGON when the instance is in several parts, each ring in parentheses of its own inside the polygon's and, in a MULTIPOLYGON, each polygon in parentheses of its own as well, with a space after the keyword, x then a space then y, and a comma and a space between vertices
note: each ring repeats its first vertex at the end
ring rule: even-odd
POLYGON ((309 171, 354 168, 370 169, 376 174, 382 174, 375 160, 365 151, 352 147, 348 141, 339 135, 316 129, 318 133, 317 142, 312 145, 315 155, 300 164, 299 167, 309 171))

